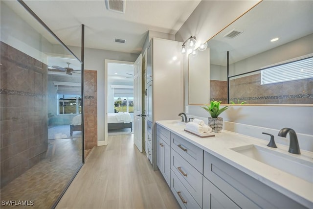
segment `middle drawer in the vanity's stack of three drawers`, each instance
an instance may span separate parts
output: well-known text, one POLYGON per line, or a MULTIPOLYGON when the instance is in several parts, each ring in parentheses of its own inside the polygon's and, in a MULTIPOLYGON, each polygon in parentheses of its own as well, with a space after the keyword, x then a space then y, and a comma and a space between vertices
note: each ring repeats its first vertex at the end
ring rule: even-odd
POLYGON ((183 159, 176 151, 171 150, 171 169, 186 187, 189 193, 202 205, 202 174, 183 159))

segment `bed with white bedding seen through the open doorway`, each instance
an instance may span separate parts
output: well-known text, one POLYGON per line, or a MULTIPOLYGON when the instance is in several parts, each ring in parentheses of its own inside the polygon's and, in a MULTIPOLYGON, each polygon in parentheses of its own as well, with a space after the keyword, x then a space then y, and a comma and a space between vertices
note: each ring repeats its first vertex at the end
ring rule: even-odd
POLYGON ((132 117, 129 113, 108 113, 108 130, 130 128, 133 131, 132 117))

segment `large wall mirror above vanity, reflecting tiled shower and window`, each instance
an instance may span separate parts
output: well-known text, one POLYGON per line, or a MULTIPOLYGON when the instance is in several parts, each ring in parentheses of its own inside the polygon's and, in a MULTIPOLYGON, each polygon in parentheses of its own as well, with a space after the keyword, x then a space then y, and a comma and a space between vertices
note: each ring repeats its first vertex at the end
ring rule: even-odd
POLYGON ((210 100, 313 104, 313 1, 262 1, 207 44, 210 100))

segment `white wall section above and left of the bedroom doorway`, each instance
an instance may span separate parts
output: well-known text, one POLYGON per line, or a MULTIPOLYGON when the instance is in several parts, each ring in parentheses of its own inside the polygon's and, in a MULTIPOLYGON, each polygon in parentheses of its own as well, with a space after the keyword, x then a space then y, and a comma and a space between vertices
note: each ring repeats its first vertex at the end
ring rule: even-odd
MULTIPOLYGON (((88 37, 85 37, 88 38, 88 37)), ((69 48, 77 55, 80 55, 81 48, 76 46, 69 46, 69 48)), ((80 57, 80 56, 79 56, 80 57)), ((117 51, 109 51, 102 49, 94 48, 85 48, 85 60, 84 60, 84 69, 86 70, 96 70, 97 71, 97 91, 98 91, 98 104, 97 104, 97 113, 98 113, 98 141, 104 141, 104 106, 105 104, 105 95, 104 93, 104 60, 120 60, 120 61, 129 61, 134 62, 138 57, 138 54, 134 53, 125 53, 117 51)))

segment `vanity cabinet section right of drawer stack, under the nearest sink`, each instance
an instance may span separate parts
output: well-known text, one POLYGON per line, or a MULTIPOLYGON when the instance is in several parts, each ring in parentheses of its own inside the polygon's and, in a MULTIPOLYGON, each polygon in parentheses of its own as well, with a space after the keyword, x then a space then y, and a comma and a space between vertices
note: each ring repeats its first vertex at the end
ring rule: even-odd
POLYGON ((203 208, 206 209, 222 206, 246 209, 305 208, 207 152, 204 152, 203 176, 203 208))

